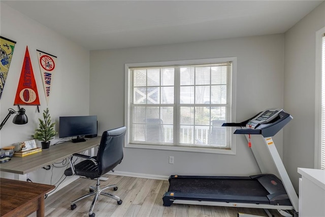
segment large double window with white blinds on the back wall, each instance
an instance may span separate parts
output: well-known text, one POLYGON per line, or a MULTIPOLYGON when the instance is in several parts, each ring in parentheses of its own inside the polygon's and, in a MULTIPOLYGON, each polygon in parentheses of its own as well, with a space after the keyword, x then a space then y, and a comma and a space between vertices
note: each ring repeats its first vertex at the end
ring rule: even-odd
POLYGON ((236 58, 126 64, 126 147, 234 153, 236 58))

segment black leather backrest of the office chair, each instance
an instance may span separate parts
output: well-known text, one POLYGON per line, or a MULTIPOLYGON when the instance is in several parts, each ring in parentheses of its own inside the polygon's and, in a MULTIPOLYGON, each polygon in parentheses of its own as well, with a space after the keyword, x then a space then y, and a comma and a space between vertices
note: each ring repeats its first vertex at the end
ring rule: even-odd
POLYGON ((126 127, 104 131, 97 153, 98 173, 103 175, 121 163, 126 127))

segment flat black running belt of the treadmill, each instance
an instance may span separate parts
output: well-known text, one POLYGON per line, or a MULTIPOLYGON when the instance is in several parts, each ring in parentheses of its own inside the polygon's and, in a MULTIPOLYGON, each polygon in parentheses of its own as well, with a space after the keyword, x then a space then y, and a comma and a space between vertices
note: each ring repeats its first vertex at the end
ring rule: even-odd
POLYGON ((254 179, 171 179, 168 192, 265 197, 268 191, 254 179))

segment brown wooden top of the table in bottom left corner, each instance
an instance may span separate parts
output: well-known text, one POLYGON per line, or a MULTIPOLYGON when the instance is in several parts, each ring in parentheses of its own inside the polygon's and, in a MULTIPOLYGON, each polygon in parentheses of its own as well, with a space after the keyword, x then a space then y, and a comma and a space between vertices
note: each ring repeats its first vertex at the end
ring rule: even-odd
POLYGON ((0 178, 1 216, 5 214, 7 214, 6 216, 13 216, 15 213, 14 209, 24 206, 28 201, 44 197, 47 192, 54 188, 54 185, 49 184, 0 178))

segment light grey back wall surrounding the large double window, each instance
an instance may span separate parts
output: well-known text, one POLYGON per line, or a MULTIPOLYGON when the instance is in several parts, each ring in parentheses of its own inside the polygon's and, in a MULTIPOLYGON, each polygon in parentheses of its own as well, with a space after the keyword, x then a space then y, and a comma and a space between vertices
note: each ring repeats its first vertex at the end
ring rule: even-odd
MULTIPOLYGON (((124 64, 230 56, 237 57, 237 121, 266 108, 282 108, 283 46, 280 34, 90 51, 90 114, 99 117, 99 133, 124 125, 124 64)), ((282 155, 282 132, 275 143, 282 155)), ((237 138, 235 156, 124 148, 116 170, 156 176, 259 173, 243 135, 237 138), (169 156, 175 157, 173 165, 168 164, 169 156)))

